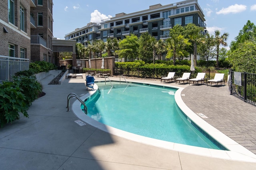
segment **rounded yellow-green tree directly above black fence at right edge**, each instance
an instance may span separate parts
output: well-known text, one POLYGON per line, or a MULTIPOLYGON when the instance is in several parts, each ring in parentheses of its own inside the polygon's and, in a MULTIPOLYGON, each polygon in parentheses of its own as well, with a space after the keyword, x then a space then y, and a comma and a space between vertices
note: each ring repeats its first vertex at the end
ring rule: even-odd
POLYGON ((245 41, 228 53, 228 60, 238 72, 256 73, 256 42, 245 41))

